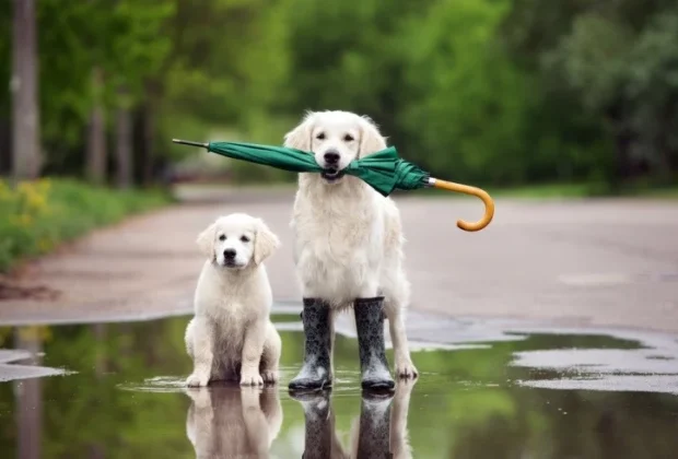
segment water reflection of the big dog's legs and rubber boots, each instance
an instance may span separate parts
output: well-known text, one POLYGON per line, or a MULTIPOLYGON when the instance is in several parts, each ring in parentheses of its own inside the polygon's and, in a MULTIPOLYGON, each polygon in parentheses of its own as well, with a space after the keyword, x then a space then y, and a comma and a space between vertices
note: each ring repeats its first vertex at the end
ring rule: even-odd
POLYGON ((351 424, 350 447, 346 449, 335 431, 329 390, 292 395, 304 409, 306 433, 302 458, 411 458, 407 414, 414 384, 416 379, 400 379, 395 395, 363 392, 360 417, 351 424))

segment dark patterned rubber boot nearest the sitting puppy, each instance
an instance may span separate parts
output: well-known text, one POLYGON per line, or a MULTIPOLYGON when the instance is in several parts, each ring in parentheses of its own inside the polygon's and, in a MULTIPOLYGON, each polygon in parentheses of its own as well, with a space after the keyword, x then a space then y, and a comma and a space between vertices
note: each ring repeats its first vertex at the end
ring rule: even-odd
POLYGON ((290 381, 291 390, 322 389, 331 386, 329 365, 329 305, 322 299, 304 298, 304 365, 290 381))

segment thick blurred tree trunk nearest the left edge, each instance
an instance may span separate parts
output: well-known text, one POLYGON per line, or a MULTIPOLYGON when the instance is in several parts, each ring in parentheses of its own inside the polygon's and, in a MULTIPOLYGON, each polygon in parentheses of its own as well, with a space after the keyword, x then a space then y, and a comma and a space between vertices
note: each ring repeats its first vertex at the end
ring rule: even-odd
POLYGON ((34 0, 14 0, 12 39, 12 169, 31 179, 42 166, 34 0))

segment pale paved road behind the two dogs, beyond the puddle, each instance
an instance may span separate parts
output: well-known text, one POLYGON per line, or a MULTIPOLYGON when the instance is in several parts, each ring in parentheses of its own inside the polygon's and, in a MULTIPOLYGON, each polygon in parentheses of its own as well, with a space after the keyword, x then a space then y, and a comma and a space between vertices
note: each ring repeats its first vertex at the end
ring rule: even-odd
MULTIPOLYGON (((469 199, 398 198, 412 308, 457 317, 526 317, 574 326, 678 332, 678 203, 496 200, 479 233, 469 199)), ((95 232, 27 271, 56 299, 0 303, 0 322, 118 320, 190 309, 202 263, 196 235, 217 215, 262 216, 283 242, 268 262, 276 297, 299 301, 289 216, 292 191, 185 203, 95 232)))

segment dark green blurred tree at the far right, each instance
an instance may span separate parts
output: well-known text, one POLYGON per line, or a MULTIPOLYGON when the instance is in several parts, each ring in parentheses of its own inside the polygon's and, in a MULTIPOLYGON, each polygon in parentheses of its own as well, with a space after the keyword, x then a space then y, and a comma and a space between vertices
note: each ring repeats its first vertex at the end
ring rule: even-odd
POLYGON ((535 131, 560 145, 552 151, 570 152, 577 175, 620 186, 676 172, 666 127, 675 119, 677 8, 671 0, 513 1, 500 32, 539 89, 535 131))

